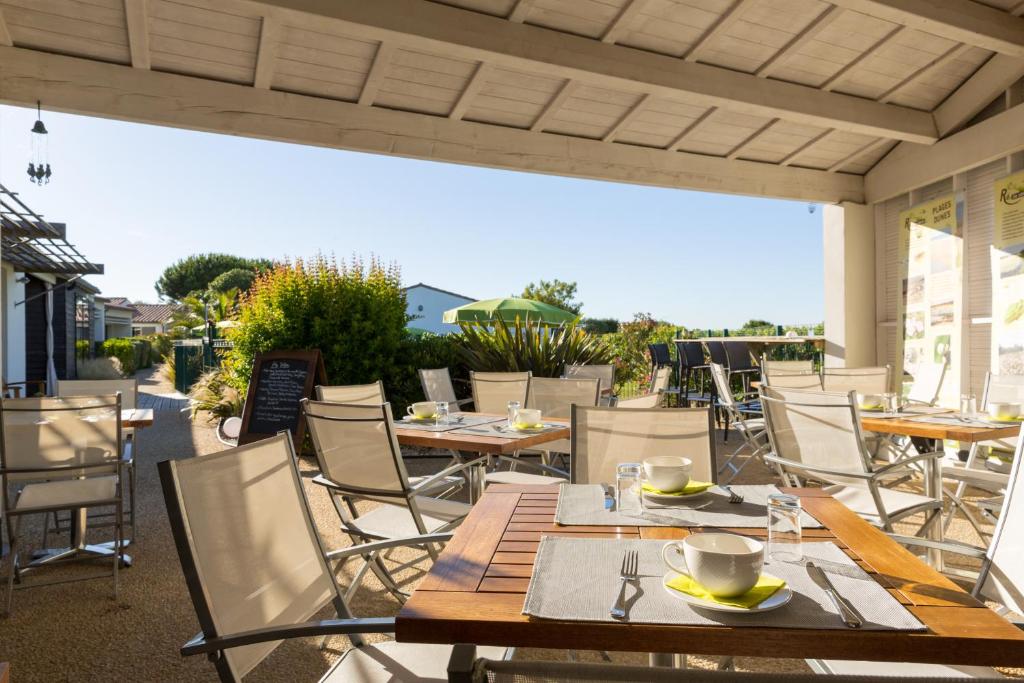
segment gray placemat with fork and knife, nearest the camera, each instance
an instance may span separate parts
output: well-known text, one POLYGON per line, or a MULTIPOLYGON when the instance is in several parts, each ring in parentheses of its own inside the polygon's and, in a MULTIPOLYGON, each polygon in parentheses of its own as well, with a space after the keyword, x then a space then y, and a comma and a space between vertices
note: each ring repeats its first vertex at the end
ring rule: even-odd
MULTIPOLYGON (((571 622, 614 622, 608 609, 618 594, 618 568, 627 550, 639 551, 640 580, 626 589, 627 621, 633 624, 754 626, 836 629, 843 625, 827 594, 803 562, 766 562, 765 571, 786 582, 793 599, 768 612, 734 614, 691 607, 672 597, 663 583, 664 541, 545 537, 534 563, 522 613, 571 622)), ((869 631, 926 628, 882 586, 831 543, 805 543, 804 559, 824 569, 840 595, 860 613, 869 631)))

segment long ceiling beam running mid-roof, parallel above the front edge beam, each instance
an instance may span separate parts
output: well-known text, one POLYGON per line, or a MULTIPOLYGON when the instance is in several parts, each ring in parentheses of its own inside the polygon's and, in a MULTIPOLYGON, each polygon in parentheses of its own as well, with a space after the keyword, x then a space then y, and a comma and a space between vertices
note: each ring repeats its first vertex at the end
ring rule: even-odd
POLYGON ((934 122, 926 112, 686 62, 426 0, 263 0, 254 6, 263 11, 279 8, 290 23, 321 30, 330 25, 362 39, 636 95, 873 137, 926 144, 936 139, 934 122))

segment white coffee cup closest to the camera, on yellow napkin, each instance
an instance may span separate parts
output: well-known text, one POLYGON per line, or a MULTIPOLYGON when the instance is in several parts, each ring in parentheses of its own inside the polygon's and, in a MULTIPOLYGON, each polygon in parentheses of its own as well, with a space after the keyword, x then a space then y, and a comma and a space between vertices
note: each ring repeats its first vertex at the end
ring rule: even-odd
POLYGON ((692 533, 667 543, 662 559, 670 569, 685 573, 719 598, 732 598, 754 588, 761 578, 765 547, 735 533, 692 533), (682 554, 686 566, 672 561, 682 554))

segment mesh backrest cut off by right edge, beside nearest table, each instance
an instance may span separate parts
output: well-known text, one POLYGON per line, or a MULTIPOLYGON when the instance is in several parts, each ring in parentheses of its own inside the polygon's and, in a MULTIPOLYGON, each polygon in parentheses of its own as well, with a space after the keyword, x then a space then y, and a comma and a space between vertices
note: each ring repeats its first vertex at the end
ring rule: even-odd
POLYGON ((999 521, 979 577, 981 593, 1024 614, 1024 439, 1018 439, 999 521))

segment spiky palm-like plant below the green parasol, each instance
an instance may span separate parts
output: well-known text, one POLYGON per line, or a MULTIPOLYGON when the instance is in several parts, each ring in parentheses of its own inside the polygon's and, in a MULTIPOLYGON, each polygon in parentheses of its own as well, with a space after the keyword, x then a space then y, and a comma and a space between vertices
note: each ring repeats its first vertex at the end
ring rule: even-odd
POLYGON ((531 371, 536 377, 559 377, 566 365, 610 364, 614 354, 598 337, 575 323, 557 328, 498 319, 493 329, 461 325, 456 338, 460 357, 480 372, 531 371))

